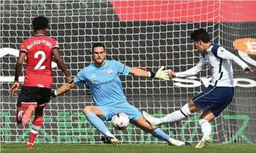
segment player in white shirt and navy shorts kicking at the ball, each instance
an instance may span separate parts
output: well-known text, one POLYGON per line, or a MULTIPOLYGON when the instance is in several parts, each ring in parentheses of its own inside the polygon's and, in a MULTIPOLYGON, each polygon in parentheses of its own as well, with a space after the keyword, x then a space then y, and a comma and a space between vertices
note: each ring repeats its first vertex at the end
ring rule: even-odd
POLYGON ((210 142, 211 124, 230 102, 232 102, 235 82, 233 80, 232 61, 240 65, 246 73, 252 72, 246 63, 227 51, 219 44, 210 42, 210 37, 205 29, 197 29, 190 35, 194 41, 195 49, 201 53, 200 61, 194 68, 181 73, 170 71, 169 77, 189 77, 198 74, 206 65, 211 69, 213 76, 211 85, 196 94, 192 100, 184 105, 180 110, 168 114, 164 118, 153 118, 148 113, 143 112, 146 121, 152 129, 156 129, 162 124, 176 123, 186 119, 191 113, 203 110, 199 119, 199 126, 203 133, 203 138, 195 148, 205 148, 210 142))

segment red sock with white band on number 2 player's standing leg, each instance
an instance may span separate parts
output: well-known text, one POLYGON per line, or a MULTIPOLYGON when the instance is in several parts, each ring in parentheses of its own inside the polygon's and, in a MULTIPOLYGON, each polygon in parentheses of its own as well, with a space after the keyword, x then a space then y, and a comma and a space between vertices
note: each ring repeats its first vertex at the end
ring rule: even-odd
POLYGON ((31 132, 30 132, 28 143, 34 144, 34 141, 35 141, 35 139, 37 137, 37 134, 38 134, 38 130, 42 126, 42 122, 43 122, 43 116, 35 116, 35 118, 32 122, 32 129, 31 129, 31 132))

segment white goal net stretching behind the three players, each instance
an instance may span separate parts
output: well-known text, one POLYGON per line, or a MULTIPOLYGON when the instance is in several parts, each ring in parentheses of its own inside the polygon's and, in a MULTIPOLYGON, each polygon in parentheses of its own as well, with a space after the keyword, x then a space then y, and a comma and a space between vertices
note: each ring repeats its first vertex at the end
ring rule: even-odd
MULTIPOLYGON (((1 1, 1 142, 28 141, 31 127, 15 123, 18 96, 10 96, 21 42, 33 35, 32 19, 50 20, 50 37, 56 38, 61 55, 73 77, 91 62, 92 43, 106 45, 107 59, 148 71, 166 66, 185 71, 195 66, 200 54, 193 49, 190 33, 208 30, 219 43, 256 69, 255 1, 1 1), (235 48, 236 49, 235 49, 235 48)), ((53 63, 53 87, 66 81, 53 63)), ((23 68, 25 68, 23 66, 23 68)), ((256 79, 233 65, 237 83, 233 103, 211 124, 214 143, 254 143, 256 141, 256 79)), ((170 81, 120 76, 127 101, 141 112, 157 118, 180 109, 211 82, 208 69, 197 76, 170 81)), ((20 82, 24 79, 23 74, 20 82)), ((19 92, 20 93, 20 90, 19 92)), ((74 88, 53 99, 45 108, 43 126, 36 143, 100 143, 100 133, 82 113, 94 104, 87 85, 74 88)), ((200 113, 186 121, 162 126, 179 140, 197 142, 200 113)), ((164 143, 135 126, 117 131, 107 123, 122 143, 164 143)))

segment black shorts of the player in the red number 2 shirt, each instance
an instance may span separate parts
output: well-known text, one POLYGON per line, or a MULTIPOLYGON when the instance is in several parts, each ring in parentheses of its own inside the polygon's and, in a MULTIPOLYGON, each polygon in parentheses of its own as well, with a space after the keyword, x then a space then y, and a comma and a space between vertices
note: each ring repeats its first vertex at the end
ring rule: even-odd
POLYGON ((34 107, 45 107, 47 102, 51 98, 50 88, 41 87, 21 87, 20 95, 18 96, 17 107, 29 107, 29 105, 34 105, 34 107))

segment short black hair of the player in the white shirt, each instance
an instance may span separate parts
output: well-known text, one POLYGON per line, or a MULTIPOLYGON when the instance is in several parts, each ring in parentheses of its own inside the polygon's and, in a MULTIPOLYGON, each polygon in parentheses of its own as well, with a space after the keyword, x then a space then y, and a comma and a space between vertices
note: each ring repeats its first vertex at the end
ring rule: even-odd
POLYGON ((194 32, 192 32, 192 34, 190 35, 190 38, 194 41, 201 40, 204 43, 209 43, 211 41, 208 32, 203 28, 194 30, 194 32))

